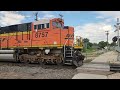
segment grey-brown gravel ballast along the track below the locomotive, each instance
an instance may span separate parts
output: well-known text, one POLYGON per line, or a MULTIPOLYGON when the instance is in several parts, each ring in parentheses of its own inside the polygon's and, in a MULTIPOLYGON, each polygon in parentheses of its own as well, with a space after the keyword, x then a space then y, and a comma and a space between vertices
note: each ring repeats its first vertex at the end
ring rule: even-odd
POLYGON ((72 79, 76 73, 73 66, 0 62, 0 79, 72 79))

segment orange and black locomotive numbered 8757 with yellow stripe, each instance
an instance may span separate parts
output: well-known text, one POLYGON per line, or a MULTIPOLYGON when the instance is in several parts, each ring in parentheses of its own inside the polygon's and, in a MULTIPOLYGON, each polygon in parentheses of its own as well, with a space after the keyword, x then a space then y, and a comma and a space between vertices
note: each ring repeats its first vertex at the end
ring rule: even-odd
POLYGON ((81 37, 61 18, 42 19, 0 28, 0 60, 80 66, 84 56, 81 37))

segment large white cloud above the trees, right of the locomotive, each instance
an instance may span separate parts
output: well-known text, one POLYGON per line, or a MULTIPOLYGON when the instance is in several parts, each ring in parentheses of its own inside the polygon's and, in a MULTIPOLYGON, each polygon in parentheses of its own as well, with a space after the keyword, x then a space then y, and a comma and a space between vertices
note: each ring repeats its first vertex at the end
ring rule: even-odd
POLYGON ((76 26, 75 36, 88 38, 90 42, 98 43, 100 41, 106 41, 106 30, 109 31, 109 42, 112 42, 112 38, 116 35, 113 27, 110 24, 106 24, 103 22, 88 23, 82 26, 76 26))

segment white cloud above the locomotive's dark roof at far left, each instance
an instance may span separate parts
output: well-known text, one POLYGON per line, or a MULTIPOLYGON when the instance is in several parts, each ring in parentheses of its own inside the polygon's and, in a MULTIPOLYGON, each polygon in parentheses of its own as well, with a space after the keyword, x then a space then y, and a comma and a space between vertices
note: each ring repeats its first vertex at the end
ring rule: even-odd
POLYGON ((25 16, 18 14, 17 12, 1 11, 0 12, 0 26, 8 26, 21 23, 25 19, 25 16))

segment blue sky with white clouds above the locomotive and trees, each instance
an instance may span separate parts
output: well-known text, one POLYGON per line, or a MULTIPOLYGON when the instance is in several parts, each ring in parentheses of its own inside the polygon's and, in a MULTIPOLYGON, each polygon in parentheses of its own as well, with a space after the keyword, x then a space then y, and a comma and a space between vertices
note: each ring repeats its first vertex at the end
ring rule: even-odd
POLYGON ((72 26, 75 36, 88 38, 92 43, 106 41, 106 32, 109 31, 109 43, 117 35, 114 32, 120 11, 0 11, 0 26, 32 22, 38 12, 39 19, 59 18, 63 15, 65 26, 72 26))

